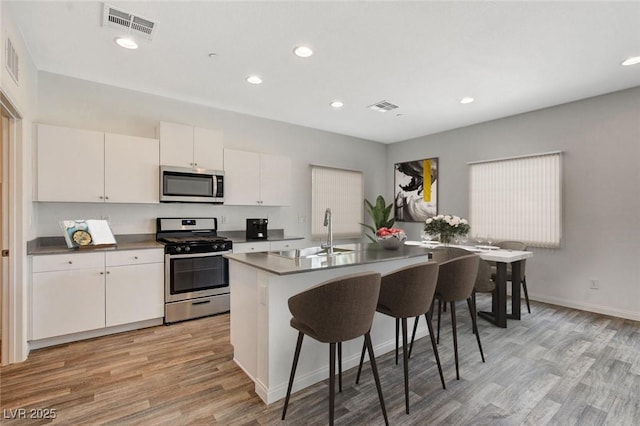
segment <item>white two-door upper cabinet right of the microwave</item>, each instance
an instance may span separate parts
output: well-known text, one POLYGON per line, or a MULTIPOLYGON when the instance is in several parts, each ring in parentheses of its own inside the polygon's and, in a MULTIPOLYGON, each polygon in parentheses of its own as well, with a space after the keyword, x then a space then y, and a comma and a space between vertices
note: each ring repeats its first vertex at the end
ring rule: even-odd
POLYGON ((291 159, 224 150, 225 204, 286 206, 291 203, 291 159))

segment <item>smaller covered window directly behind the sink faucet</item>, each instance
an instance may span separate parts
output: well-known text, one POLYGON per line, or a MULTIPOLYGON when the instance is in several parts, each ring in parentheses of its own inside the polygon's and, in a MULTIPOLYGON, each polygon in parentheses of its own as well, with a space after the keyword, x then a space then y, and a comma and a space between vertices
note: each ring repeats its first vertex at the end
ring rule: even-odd
POLYGON ((311 166, 311 236, 326 238, 324 212, 331 209, 334 238, 362 237, 362 172, 311 166))

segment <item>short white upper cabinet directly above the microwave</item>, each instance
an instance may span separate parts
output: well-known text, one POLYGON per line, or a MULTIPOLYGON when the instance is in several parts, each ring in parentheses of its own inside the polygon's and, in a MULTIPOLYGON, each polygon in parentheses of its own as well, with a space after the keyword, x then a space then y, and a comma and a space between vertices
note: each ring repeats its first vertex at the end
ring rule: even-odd
POLYGON ((161 121, 160 164, 223 170, 222 131, 161 121))

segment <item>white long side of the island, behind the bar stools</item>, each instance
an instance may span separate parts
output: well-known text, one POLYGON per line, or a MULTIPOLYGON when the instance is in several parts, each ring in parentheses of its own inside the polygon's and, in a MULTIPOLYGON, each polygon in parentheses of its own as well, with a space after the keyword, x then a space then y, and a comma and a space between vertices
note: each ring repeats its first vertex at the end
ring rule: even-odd
MULTIPOLYGON (((364 265, 348 266, 321 271, 291 275, 268 276, 266 296, 267 305, 258 309, 258 324, 264 327, 260 333, 258 345, 258 375, 256 393, 267 403, 276 402, 286 395, 291 372, 291 363, 295 352, 298 332, 290 325, 291 313, 288 308, 289 297, 298 294, 323 281, 359 272, 375 271, 382 274, 395 269, 424 262, 423 257, 413 257, 393 261, 384 261, 364 265), (263 342, 266 344, 263 346, 263 342)), ((233 312, 232 312, 233 316, 233 312)), ((417 337, 426 335, 426 324, 421 323, 417 337)), ((376 357, 395 348, 395 321, 385 315, 376 314, 371 328, 371 339, 376 357)), ((358 338, 343 343, 343 371, 358 365, 363 339, 358 338)), ((363 372, 364 380, 371 378, 368 364, 363 372)), ((300 360, 296 371, 293 391, 303 389, 329 377, 329 345, 305 337, 300 360)))

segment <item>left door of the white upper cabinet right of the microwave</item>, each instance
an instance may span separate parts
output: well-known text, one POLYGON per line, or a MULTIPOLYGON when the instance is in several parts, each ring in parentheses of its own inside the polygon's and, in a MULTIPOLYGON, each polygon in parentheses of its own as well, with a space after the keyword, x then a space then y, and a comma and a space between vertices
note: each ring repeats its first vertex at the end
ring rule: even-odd
POLYGON ((224 203, 260 205, 260 154, 224 150, 224 203))

